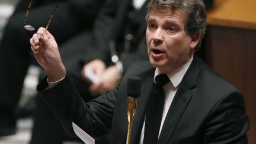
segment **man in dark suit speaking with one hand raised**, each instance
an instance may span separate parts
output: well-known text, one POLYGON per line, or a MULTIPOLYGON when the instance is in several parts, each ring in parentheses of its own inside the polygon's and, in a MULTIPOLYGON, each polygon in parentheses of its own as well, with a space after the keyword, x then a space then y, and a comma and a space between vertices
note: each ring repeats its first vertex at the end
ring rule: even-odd
POLYGON ((69 79, 52 34, 40 28, 43 39, 36 35, 30 39, 34 56, 47 72, 37 89, 66 132, 75 135, 73 121, 92 136, 111 131, 112 143, 125 143, 126 82, 129 76, 139 76, 142 93, 130 142, 145 144, 151 138, 147 133, 149 89, 159 74, 166 74, 169 82, 163 87, 157 143, 247 143, 249 122, 242 95, 194 54, 206 27, 203 1, 152 0, 146 21, 149 62, 135 63, 116 89, 88 103, 69 79))

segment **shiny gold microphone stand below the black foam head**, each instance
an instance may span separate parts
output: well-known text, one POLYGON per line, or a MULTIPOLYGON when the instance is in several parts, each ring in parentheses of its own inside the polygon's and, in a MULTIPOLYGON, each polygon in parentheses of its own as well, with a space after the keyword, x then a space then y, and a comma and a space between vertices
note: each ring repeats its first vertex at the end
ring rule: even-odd
POLYGON ((137 98, 128 97, 128 107, 127 107, 128 131, 127 131, 126 144, 130 144, 130 136, 132 133, 133 119, 135 118, 135 114, 136 114, 136 105, 137 105, 137 98))

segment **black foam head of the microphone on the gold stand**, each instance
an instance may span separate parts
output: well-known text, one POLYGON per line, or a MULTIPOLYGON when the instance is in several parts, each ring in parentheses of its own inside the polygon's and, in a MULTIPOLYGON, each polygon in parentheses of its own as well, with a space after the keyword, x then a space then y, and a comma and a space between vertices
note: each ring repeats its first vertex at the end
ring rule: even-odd
POLYGON ((137 98, 141 91, 141 79, 137 76, 130 76, 127 79, 127 96, 137 98))

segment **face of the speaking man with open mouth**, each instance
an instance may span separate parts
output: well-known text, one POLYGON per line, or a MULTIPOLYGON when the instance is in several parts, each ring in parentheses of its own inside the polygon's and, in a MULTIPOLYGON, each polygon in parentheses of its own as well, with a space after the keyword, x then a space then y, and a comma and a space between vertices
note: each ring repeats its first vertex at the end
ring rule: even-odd
POLYGON ((177 9, 159 9, 149 12, 146 41, 152 66, 163 73, 171 73, 193 55, 200 34, 195 40, 185 31, 187 15, 177 9))

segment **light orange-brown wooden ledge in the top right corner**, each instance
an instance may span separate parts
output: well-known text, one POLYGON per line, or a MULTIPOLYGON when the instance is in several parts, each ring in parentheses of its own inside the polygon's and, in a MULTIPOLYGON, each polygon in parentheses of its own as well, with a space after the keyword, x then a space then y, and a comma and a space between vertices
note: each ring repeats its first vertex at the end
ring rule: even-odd
POLYGON ((215 6, 207 12, 207 23, 256 29, 255 8, 255 0, 215 0, 215 6))

